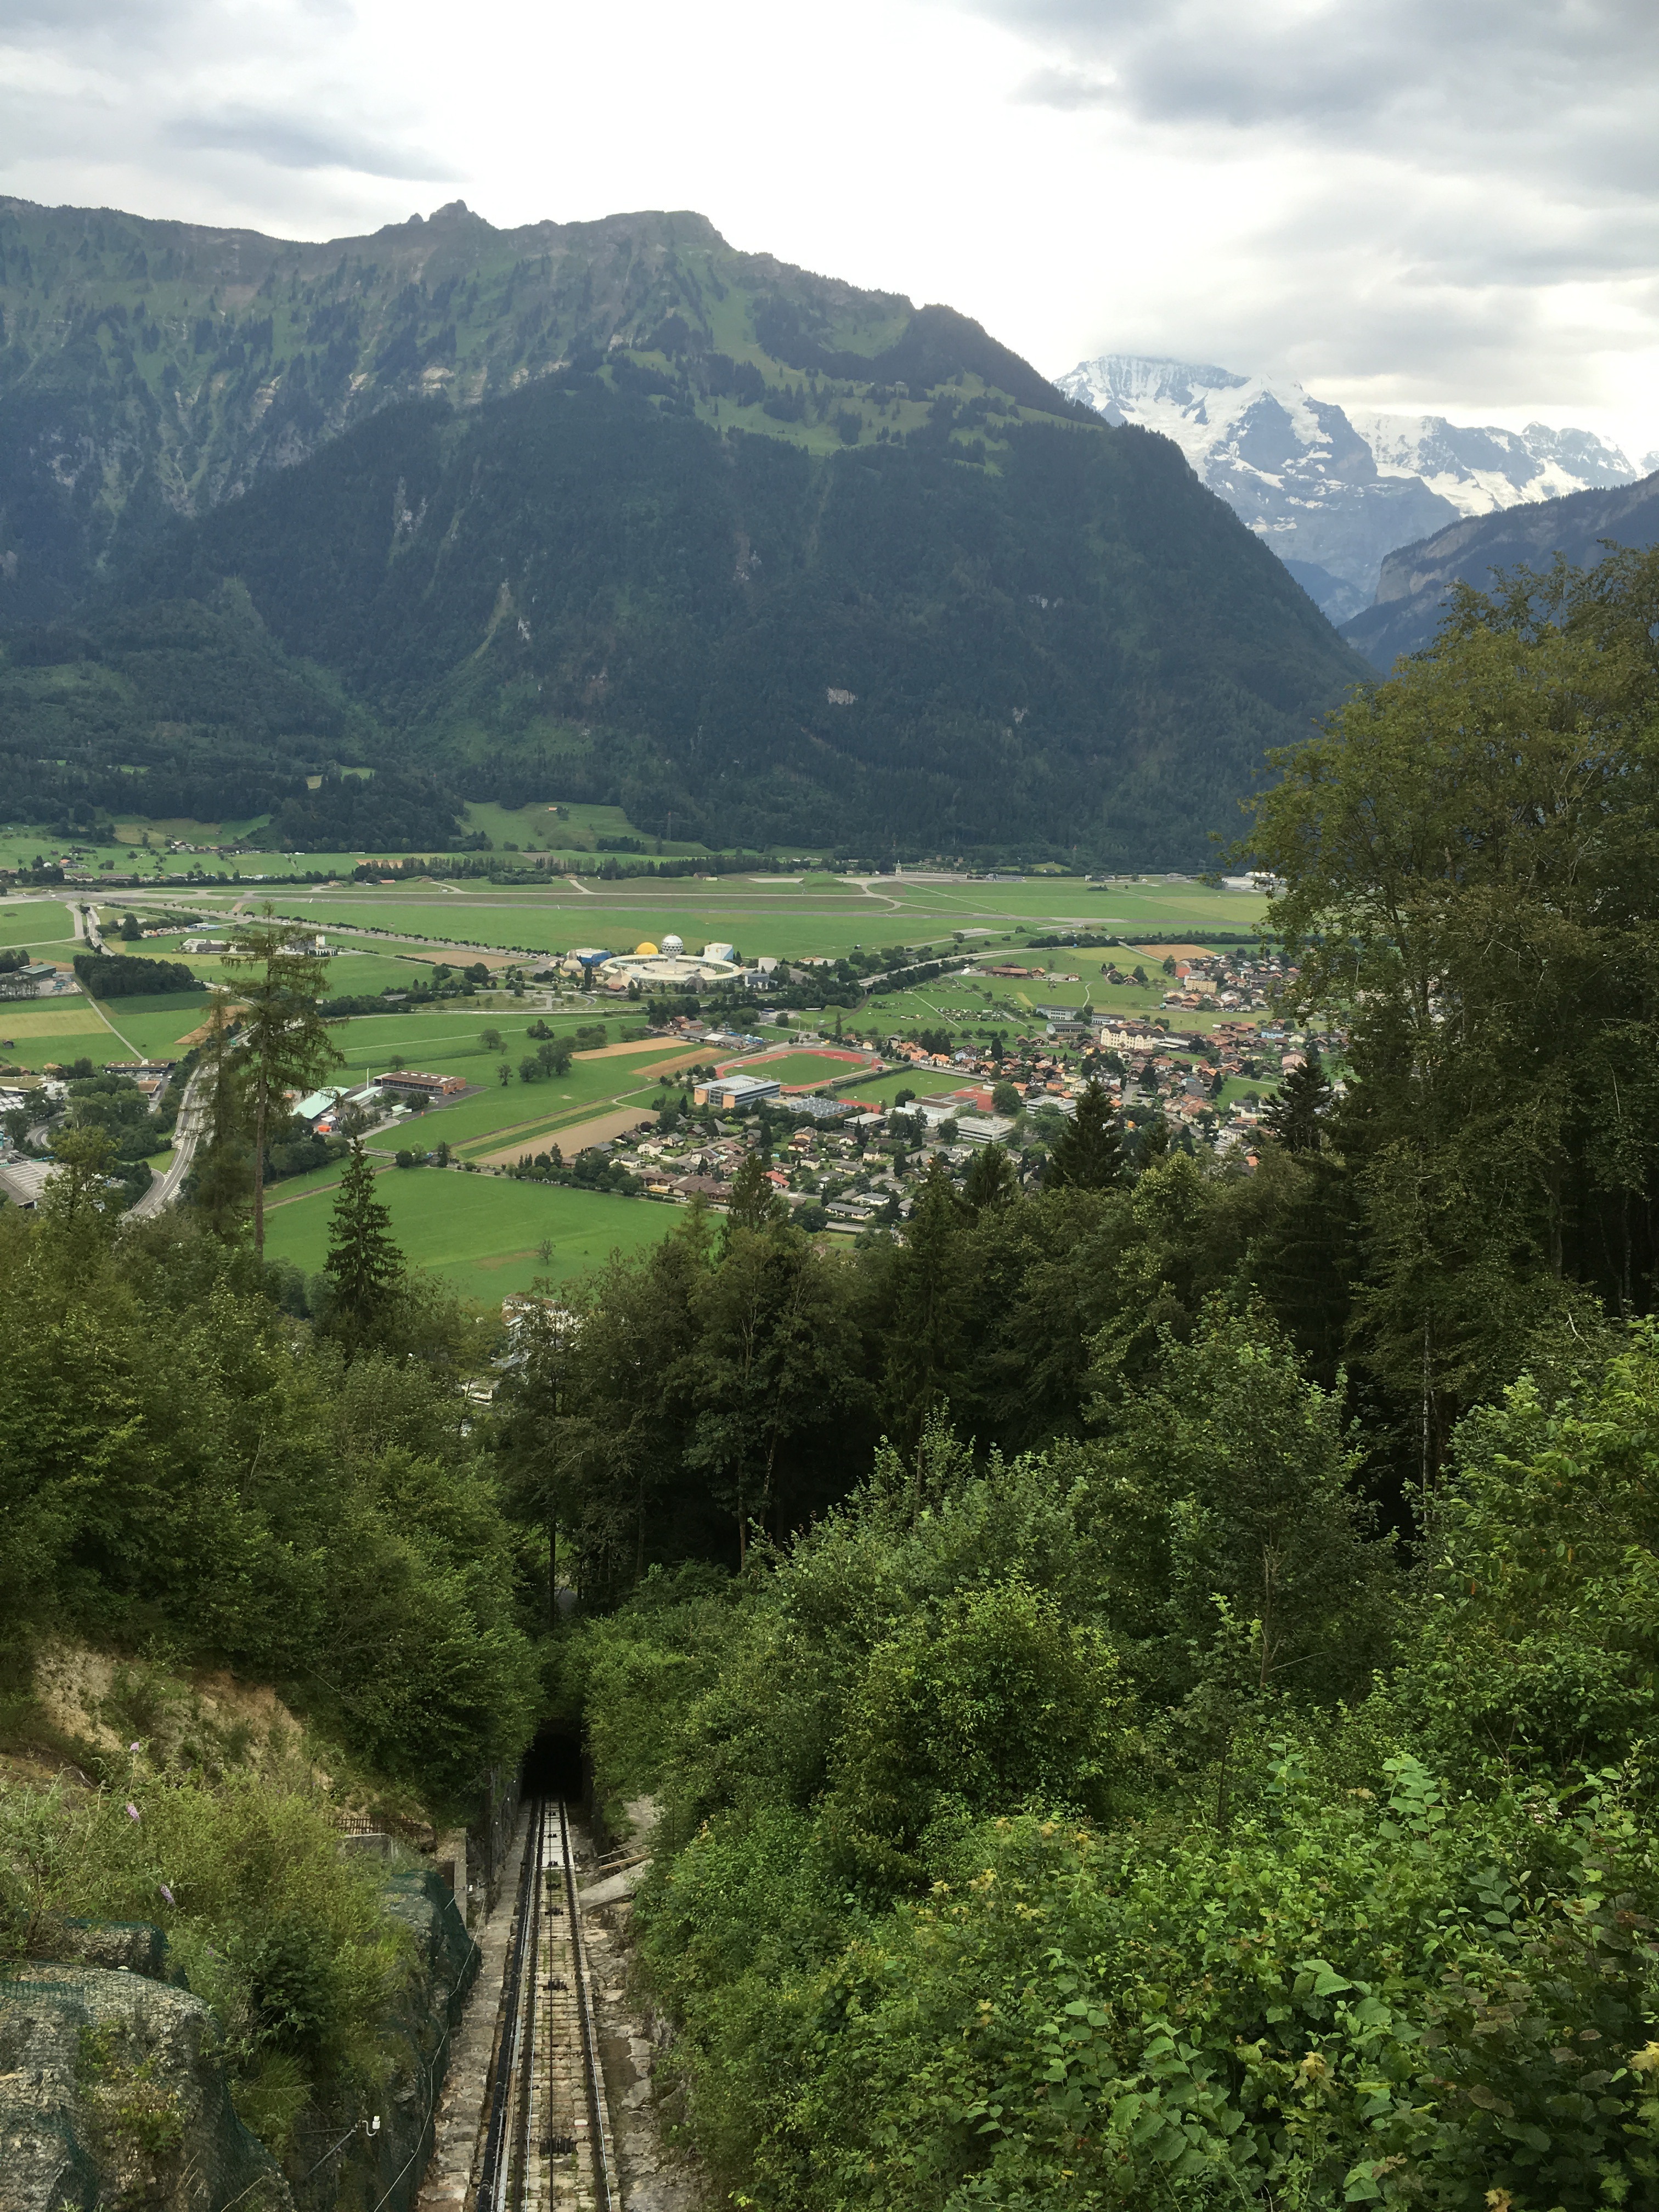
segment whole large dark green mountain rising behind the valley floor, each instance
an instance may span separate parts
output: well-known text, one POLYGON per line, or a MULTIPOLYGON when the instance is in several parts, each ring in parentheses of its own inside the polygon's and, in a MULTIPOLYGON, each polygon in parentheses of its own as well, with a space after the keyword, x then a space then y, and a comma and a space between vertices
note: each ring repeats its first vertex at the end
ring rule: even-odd
POLYGON ((1365 677, 1170 442, 699 215, 13 199, 0 319, 13 810, 327 801, 356 847, 511 792, 1170 867, 1365 677))

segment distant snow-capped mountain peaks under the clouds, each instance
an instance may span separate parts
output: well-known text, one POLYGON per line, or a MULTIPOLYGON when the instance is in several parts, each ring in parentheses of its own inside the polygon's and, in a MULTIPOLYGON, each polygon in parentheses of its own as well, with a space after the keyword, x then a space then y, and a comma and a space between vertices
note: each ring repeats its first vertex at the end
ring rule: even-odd
POLYGON ((1637 478, 1595 431, 1349 416, 1287 378, 1190 361, 1102 354, 1057 383, 1108 422, 1172 438, 1336 624, 1371 604, 1383 562, 1405 544, 1467 518, 1637 478))

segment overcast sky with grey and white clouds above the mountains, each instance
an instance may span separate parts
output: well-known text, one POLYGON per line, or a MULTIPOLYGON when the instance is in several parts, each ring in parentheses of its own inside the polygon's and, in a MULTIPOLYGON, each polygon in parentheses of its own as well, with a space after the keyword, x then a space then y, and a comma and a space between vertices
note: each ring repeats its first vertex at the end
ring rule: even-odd
POLYGON ((0 192, 290 237, 699 208, 1057 374, 1659 447, 1655 0, 0 0, 0 192))

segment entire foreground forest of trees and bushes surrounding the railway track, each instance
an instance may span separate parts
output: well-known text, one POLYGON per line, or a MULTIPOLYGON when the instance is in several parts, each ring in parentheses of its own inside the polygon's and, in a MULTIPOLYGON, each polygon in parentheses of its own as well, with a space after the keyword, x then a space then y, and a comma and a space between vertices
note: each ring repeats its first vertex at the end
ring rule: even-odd
POLYGON ((714 2201, 1659 2203, 1657 635, 1659 555, 1517 575, 1281 757, 1349 1044, 1254 1170, 1095 1099, 836 1248, 752 1155, 489 1347, 361 1157, 263 1263, 327 1033, 254 931, 192 1203, 122 1225, 88 1106, 0 1214, 11 1679, 230 1663, 429 1805, 582 1728, 714 2201))

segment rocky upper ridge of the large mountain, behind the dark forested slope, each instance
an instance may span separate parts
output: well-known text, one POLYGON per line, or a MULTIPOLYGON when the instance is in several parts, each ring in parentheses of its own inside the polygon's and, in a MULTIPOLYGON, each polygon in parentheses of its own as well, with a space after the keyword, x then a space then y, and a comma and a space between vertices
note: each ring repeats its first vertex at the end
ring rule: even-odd
POLYGON ((728 420, 787 411, 810 369, 838 392, 967 367, 1073 407, 964 316, 734 252, 701 215, 495 230, 453 201, 319 246, 0 197, 0 622, 394 400, 471 407, 653 343, 699 356, 728 420))

